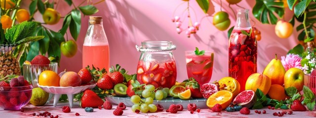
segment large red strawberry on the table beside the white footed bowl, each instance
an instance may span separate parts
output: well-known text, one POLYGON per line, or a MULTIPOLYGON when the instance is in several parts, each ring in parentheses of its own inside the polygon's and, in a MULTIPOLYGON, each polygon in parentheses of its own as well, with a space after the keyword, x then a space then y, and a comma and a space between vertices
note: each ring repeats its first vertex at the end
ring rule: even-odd
POLYGON ((92 90, 86 89, 83 91, 83 95, 80 100, 81 108, 92 107, 98 108, 98 106, 102 106, 104 101, 92 90))

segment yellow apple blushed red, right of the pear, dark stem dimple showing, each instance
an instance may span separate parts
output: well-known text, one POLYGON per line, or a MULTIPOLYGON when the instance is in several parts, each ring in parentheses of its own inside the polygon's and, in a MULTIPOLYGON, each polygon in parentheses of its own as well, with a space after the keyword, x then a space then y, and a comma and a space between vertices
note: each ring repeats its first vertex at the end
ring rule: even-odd
POLYGON ((299 68, 290 68, 284 75, 284 88, 295 87, 298 92, 303 90, 304 72, 299 68))

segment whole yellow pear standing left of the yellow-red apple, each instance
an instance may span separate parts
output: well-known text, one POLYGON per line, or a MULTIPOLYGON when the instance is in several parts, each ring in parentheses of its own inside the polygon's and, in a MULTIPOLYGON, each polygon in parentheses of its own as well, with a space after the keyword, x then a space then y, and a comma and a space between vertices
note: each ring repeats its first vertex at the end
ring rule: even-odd
POLYGON ((272 59, 270 63, 266 66, 266 68, 263 70, 262 74, 268 76, 271 79, 271 84, 278 84, 283 85, 284 84, 284 75, 285 75, 285 69, 282 65, 281 60, 272 59))

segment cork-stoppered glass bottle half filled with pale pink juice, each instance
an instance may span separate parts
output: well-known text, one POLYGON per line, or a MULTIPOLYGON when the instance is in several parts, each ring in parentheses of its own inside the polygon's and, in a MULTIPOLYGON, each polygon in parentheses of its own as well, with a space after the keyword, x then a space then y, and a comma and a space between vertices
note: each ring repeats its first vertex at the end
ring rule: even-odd
POLYGON ((92 64, 96 68, 109 69, 109 43, 103 29, 101 16, 90 16, 89 27, 82 49, 82 68, 92 64))

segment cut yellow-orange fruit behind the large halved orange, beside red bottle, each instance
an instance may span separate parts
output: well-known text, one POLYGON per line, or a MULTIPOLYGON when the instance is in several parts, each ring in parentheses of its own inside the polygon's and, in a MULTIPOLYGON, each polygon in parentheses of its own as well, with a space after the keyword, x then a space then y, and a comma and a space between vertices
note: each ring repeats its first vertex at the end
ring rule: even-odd
POLYGON ((218 81, 220 90, 228 90, 233 93, 233 98, 235 98, 240 91, 239 82, 232 77, 224 77, 218 81))

